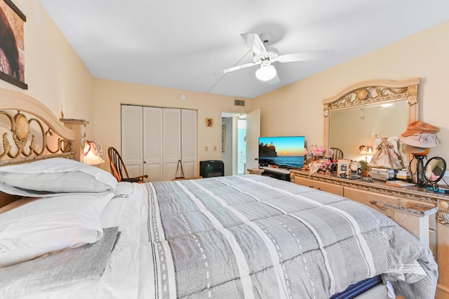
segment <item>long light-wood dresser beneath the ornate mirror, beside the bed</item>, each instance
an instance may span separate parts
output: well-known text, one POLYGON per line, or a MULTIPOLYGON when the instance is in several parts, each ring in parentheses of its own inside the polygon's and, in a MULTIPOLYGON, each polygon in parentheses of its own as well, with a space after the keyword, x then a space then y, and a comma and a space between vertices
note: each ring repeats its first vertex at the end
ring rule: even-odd
POLYGON ((431 248, 438 263, 436 298, 449 298, 449 194, 420 187, 390 187, 385 182, 338 178, 290 169, 290 181, 347 197, 395 220, 431 248), (448 214, 444 213, 448 212, 448 214), (439 219, 441 218, 441 220, 439 219))

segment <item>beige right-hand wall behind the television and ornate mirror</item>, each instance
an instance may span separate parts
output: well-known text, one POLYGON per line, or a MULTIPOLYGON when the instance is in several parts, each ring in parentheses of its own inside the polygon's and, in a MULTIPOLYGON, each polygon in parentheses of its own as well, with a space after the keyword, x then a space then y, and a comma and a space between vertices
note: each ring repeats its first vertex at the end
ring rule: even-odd
POLYGON ((420 119, 441 128, 442 145, 429 157, 449 161, 448 36, 445 22, 253 99, 253 109, 261 109, 261 135, 305 135, 308 145, 323 145, 323 99, 360 81, 420 77, 420 119))

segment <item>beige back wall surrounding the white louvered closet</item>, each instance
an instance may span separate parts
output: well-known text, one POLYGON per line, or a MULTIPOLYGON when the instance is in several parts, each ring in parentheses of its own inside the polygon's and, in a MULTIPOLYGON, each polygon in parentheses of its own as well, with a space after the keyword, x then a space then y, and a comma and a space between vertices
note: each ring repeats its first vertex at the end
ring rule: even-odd
MULTIPOLYGON (((246 109, 250 109, 251 102, 246 100, 246 107, 236 107, 234 97, 103 79, 94 79, 93 85, 95 126, 90 129, 93 130, 95 141, 102 144, 105 160, 107 147, 114 146, 120 149, 122 103, 196 109, 198 111, 198 160, 202 161, 221 159, 222 112, 245 113, 246 109), (180 95, 185 95, 186 99, 181 100, 180 95), (205 126, 206 118, 213 118, 213 127, 205 126), (208 147, 207 151, 206 147, 208 147)), ((102 164, 101 167, 107 169, 109 166, 102 164)))

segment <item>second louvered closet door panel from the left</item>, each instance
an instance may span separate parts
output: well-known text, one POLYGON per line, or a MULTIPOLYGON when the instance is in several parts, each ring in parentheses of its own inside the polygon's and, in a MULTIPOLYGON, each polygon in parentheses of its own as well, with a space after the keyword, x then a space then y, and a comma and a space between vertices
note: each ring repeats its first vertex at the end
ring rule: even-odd
POLYGON ((143 168, 150 182, 163 178, 162 110, 143 107, 143 168))

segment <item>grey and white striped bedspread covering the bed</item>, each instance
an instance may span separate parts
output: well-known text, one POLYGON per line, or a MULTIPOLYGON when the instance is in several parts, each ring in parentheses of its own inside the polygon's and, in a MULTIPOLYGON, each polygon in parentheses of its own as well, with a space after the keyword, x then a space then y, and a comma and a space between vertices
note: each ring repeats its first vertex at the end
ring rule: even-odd
POLYGON ((145 187, 155 298, 329 298, 382 273, 434 298, 429 249, 344 197, 261 175, 145 187))

